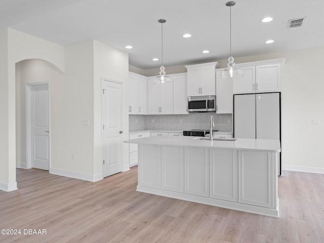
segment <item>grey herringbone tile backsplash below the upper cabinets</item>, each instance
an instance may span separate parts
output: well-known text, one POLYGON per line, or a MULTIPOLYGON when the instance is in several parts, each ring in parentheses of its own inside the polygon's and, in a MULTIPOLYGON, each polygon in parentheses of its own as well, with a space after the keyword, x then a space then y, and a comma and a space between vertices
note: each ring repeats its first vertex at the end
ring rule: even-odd
POLYGON ((129 130, 210 129, 211 115, 214 116, 216 130, 232 132, 232 114, 216 114, 216 112, 192 112, 184 115, 129 115, 129 130))

